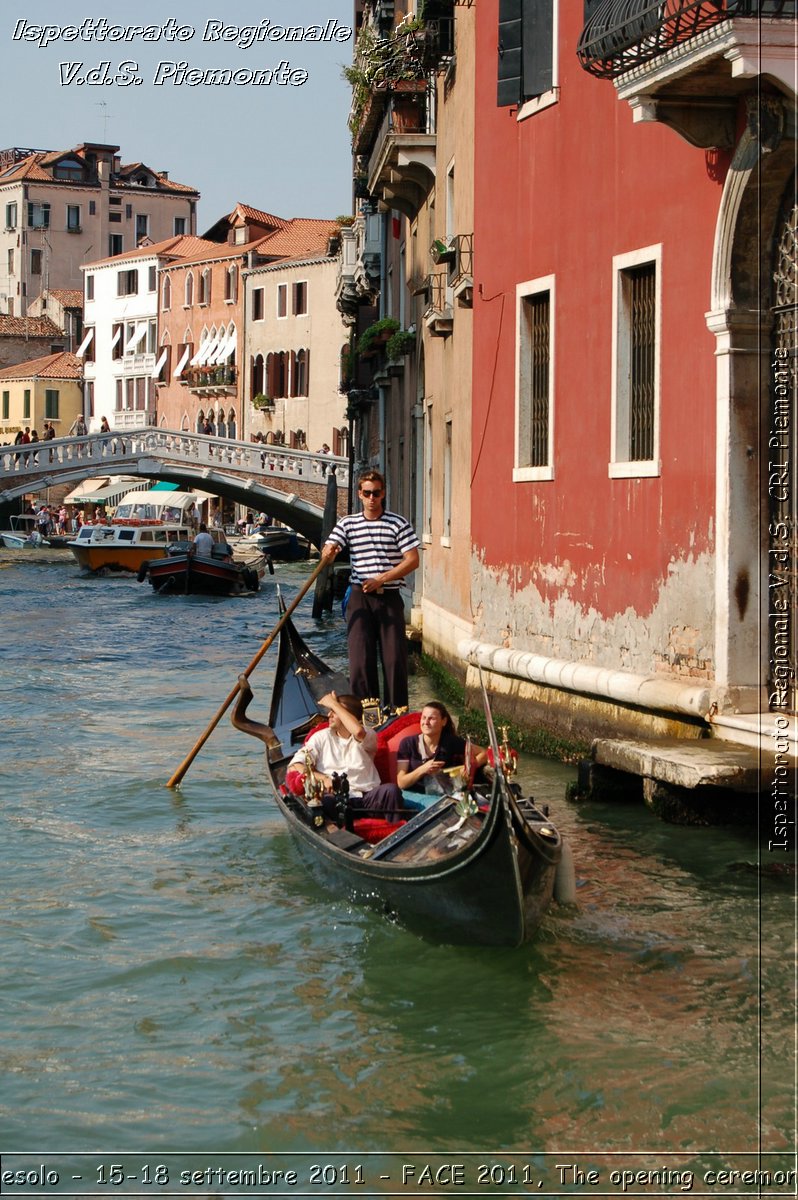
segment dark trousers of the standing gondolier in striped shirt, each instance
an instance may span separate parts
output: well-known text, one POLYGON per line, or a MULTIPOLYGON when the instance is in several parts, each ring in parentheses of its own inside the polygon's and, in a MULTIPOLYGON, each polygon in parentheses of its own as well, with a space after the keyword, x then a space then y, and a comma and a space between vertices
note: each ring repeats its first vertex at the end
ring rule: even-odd
POLYGON ((349 679, 360 700, 379 696, 382 659, 383 700, 394 708, 407 706, 407 634, 404 601, 398 588, 365 593, 353 584, 347 604, 349 679))

